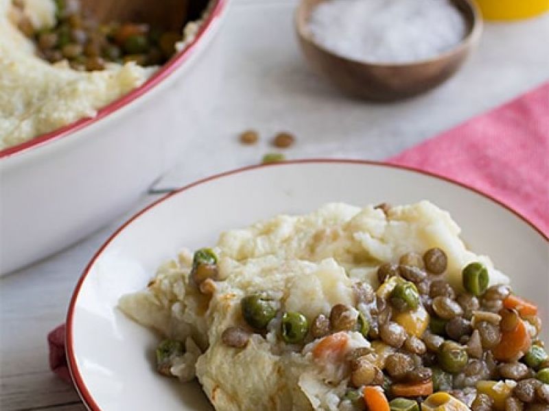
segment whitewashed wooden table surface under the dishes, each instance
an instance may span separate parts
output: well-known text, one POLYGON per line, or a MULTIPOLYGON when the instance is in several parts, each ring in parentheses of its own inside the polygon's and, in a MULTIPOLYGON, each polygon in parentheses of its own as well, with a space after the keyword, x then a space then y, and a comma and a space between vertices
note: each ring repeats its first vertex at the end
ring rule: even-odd
POLYGON ((463 69, 428 95, 385 105, 352 101, 303 62, 292 29, 295 4, 233 0, 212 51, 223 53, 222 66, 211 67, 221 71, 221 79, 209 90, 215 104, 202 113, 201 136, 190 143, 195 155, 182 155, 178 166, 108 227, 0 279, 0 410, 85 409, 73 388, 48 369, 47 332, 64 321, 73 287, 93 253, 159 192, 259 162, 270 150, 268 138, 282 129, 298 139, 289 158, 383 159, 549 79, 545 15, 488 24, 463 69), (262 140, 242 147, 236 136, 250 127, 262 140))

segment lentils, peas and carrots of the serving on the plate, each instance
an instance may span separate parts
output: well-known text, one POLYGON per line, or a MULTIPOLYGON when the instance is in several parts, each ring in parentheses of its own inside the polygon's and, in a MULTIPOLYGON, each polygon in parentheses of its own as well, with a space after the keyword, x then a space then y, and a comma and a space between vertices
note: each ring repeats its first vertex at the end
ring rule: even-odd
MULTIPOLYGON (((195 253, 191 277, 200 290, 216 279, 216 262, 211 249, 195 253)), ((379 266, 377 290, 355 284, 355 307, 336 304, 311 324, 300 312, 283 312, 279 337, 292 345, 318 339, 316 357, 347 343, 345 331, 371 341, 341 359, 352 370, 343 410, 548 410, 549 356, 537 338, 535 304, 509 286, 488 288, 480 262, 463 268, 464 292, 440 279, 445 269, 439 248, 404 254, 399 264, 379 266)), ((260 294, 244 297, 242 326, 227 328, 223 343, 242 348, 251 334, 264 334, 277 306, 260 294)), ((161 373, 180 350, 180 343, 161 343, 161 373)))

